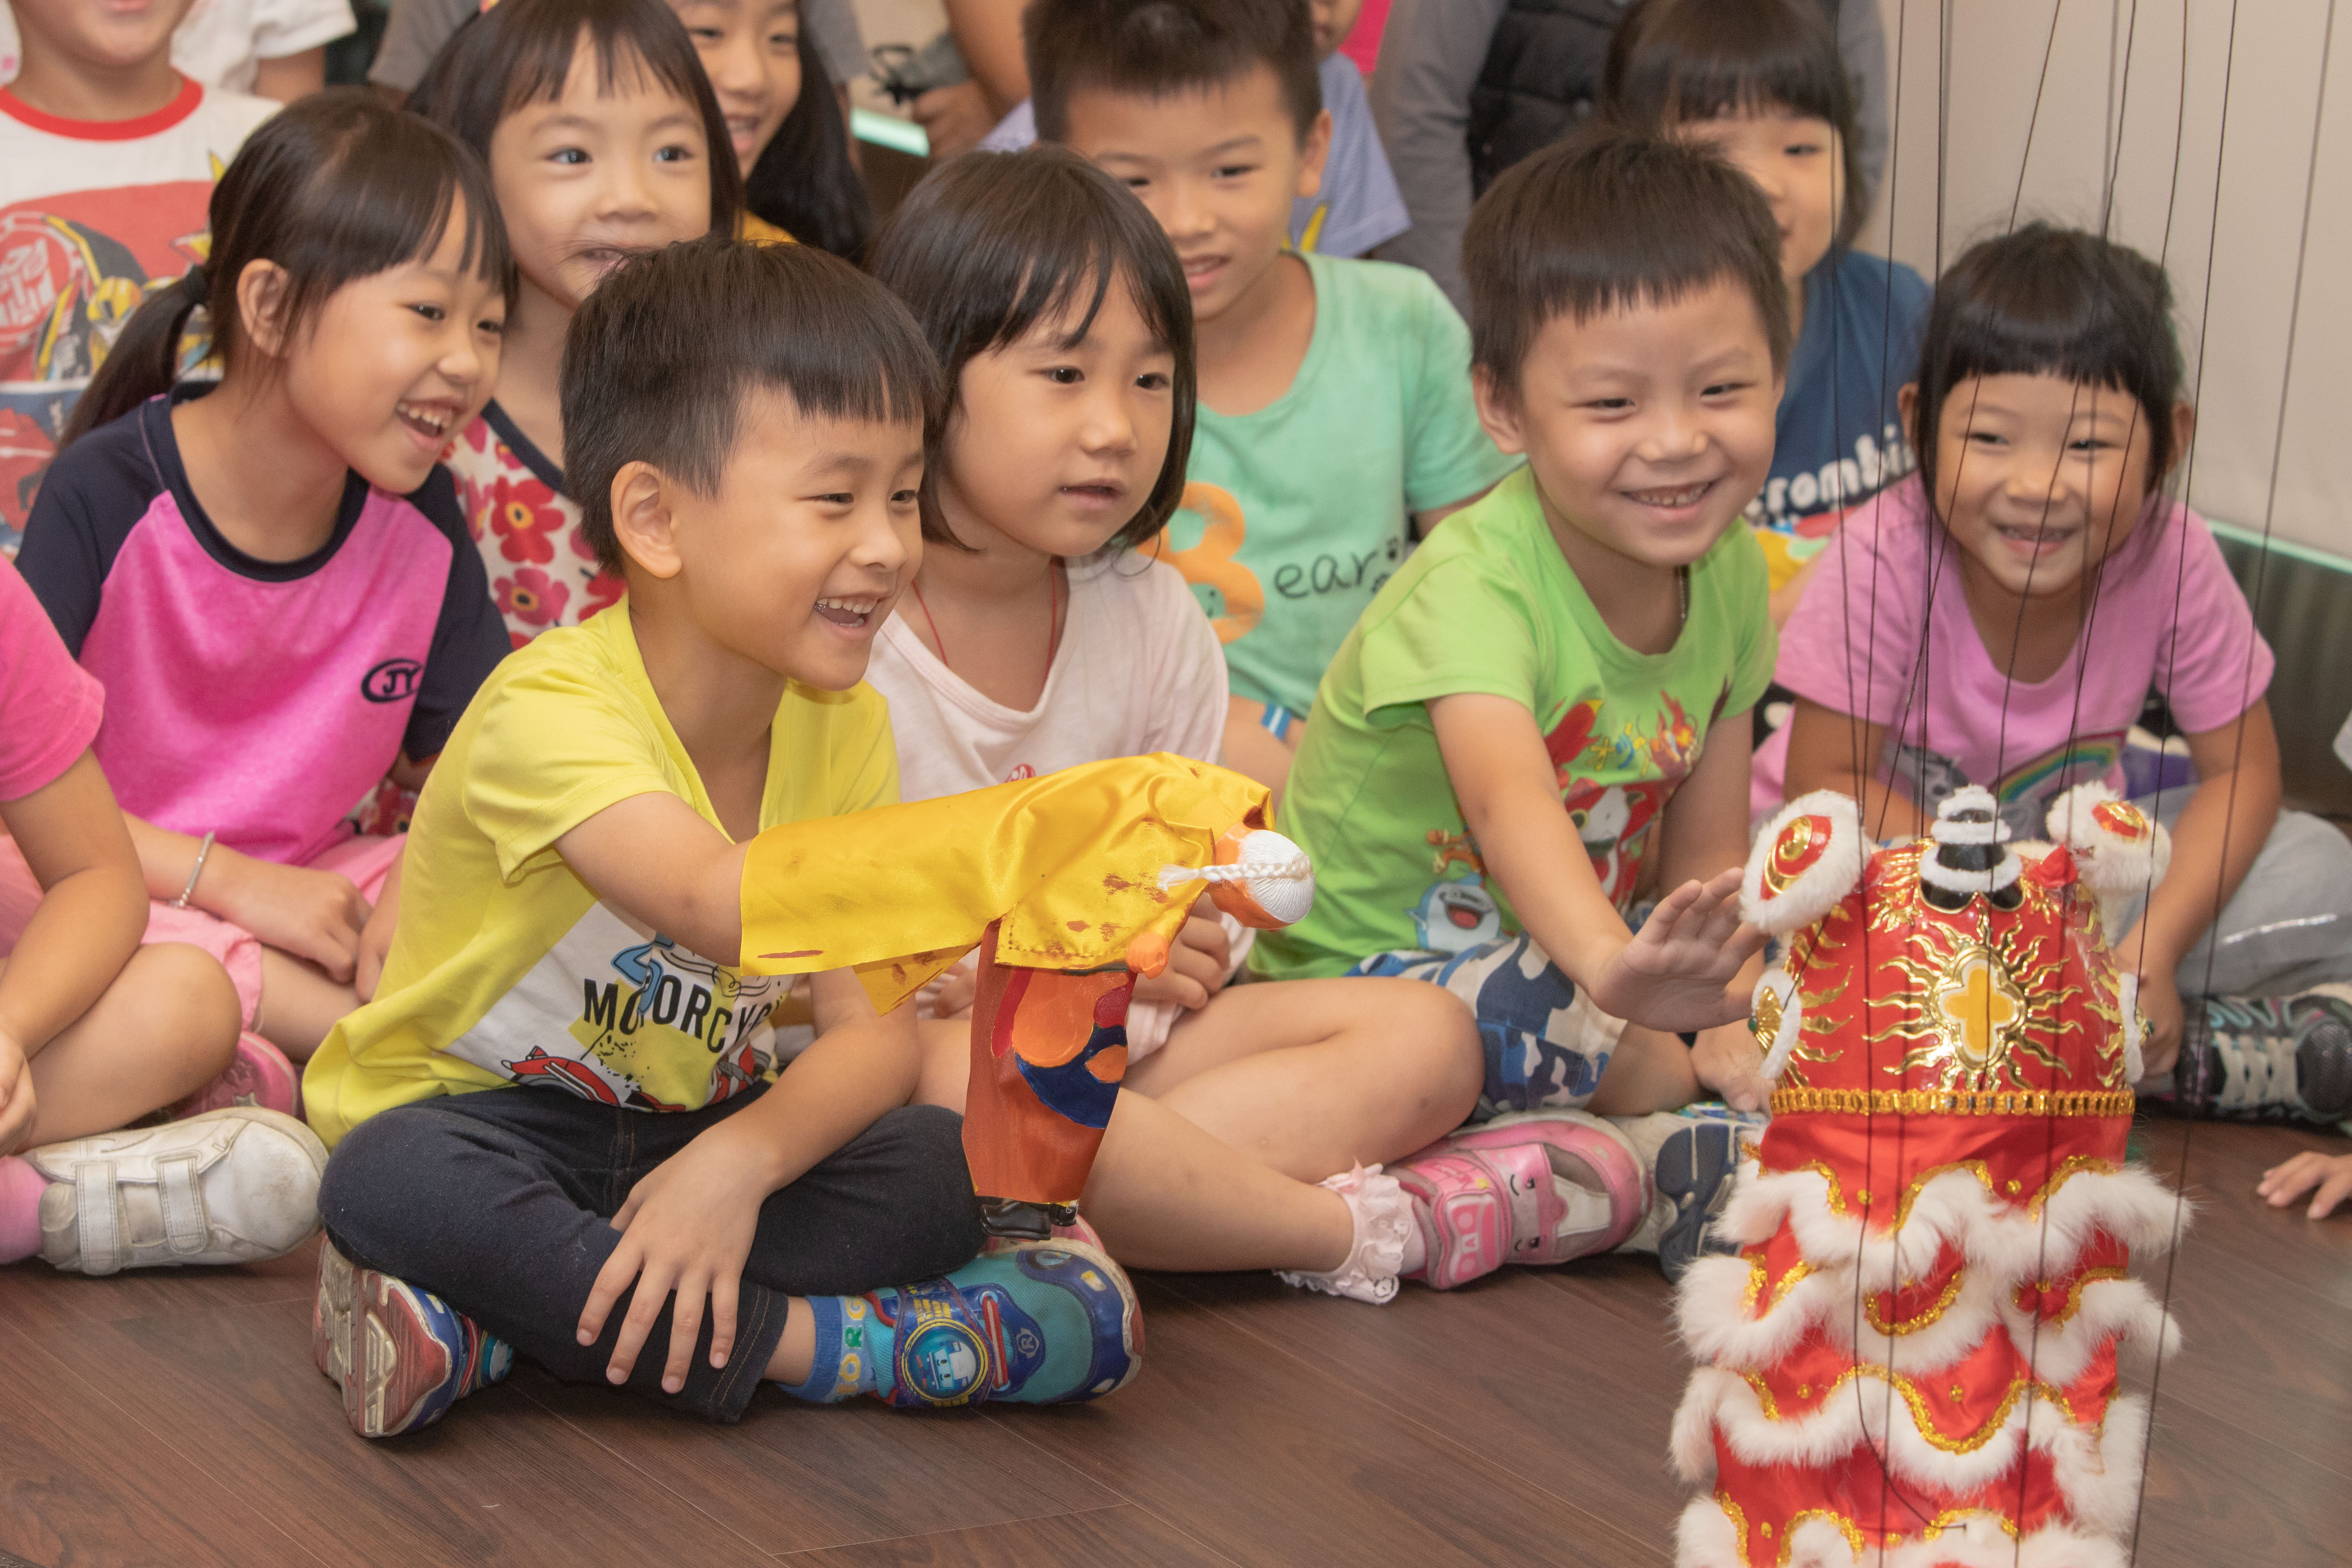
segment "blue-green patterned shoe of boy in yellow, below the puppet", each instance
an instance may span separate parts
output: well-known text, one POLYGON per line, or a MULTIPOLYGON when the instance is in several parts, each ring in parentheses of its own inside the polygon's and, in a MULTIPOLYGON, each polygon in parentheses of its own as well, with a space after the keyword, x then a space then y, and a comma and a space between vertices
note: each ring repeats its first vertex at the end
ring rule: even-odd
POLYGON ((1134 1284, 1075 1237, 990 1241, 946 1279, 866 1300, 889 1333, 875 1392, 894 1406, 1073 1403, 1143 1368, 1134 1284))

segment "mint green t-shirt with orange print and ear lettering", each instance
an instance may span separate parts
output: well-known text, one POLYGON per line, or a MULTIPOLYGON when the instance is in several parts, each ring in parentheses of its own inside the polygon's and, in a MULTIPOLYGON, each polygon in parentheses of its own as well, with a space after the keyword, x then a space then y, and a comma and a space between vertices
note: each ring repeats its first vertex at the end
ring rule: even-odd
POLYGON ((1200 409, 1160 550, 1225 644, 1235 696, 1305 712, 1331 654, 1404 562, 1409 512, 1501 480, 1470 402, 1470 331, 1428 273, 1305 256, 1315 336, 1256 414, 1200 409))

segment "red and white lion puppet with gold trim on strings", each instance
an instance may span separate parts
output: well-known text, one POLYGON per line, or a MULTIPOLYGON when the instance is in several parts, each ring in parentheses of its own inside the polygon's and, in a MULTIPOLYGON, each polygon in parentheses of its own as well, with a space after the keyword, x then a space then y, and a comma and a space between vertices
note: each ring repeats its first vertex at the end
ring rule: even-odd
POLYGON ((2169 839, 2105 785, 2049 832, 2009 844, 1966 788, 1867 853, 1823 790, 1757 839, 1773 1117, 1717 1220, 1738 1255, 1682 1281, 1675 1462, 1710 1488, 1682 1568, 2124 1566, 2147 1410, 2117 1354, 2178 1340, 2126 1269, 2180 1206, 2124 1164, 2143 1023, 2100 900, 2169 839))

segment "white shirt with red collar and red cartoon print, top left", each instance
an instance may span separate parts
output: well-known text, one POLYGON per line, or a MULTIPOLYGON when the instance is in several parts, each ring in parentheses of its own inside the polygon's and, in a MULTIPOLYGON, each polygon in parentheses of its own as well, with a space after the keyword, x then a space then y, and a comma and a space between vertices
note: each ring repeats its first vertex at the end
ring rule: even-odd
POLYGON ((212 183, 275 110, 183 82, 139 120, 64 120, 0 89, 0 550, 132 310, 209 252, 212 183))

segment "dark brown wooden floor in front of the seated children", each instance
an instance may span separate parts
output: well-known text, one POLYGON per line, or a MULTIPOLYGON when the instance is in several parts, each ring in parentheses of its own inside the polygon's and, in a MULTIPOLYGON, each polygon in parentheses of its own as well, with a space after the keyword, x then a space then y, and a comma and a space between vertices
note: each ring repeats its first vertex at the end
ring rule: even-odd
MULTIPOLYGON (((2352 1220, 2260 1208, 2307 1133, 2157 1121, 2201 1208, 2171 1276, 2140 1563, 2352 1561, 2352 1220)), ((1663 1563, 1684 1361, 1646 1260, 1390 1307, 1143 1276, 1150 1356, 1068 1410, 764 1389, 703 1427, 517 1368, 362 1443, 310 1366, 306 1248, 256 1269, 0 1269, 0 1561, 1663 1563)), ((2161 1262, 2150 1272, 2161 1291, 2161 1262)))

